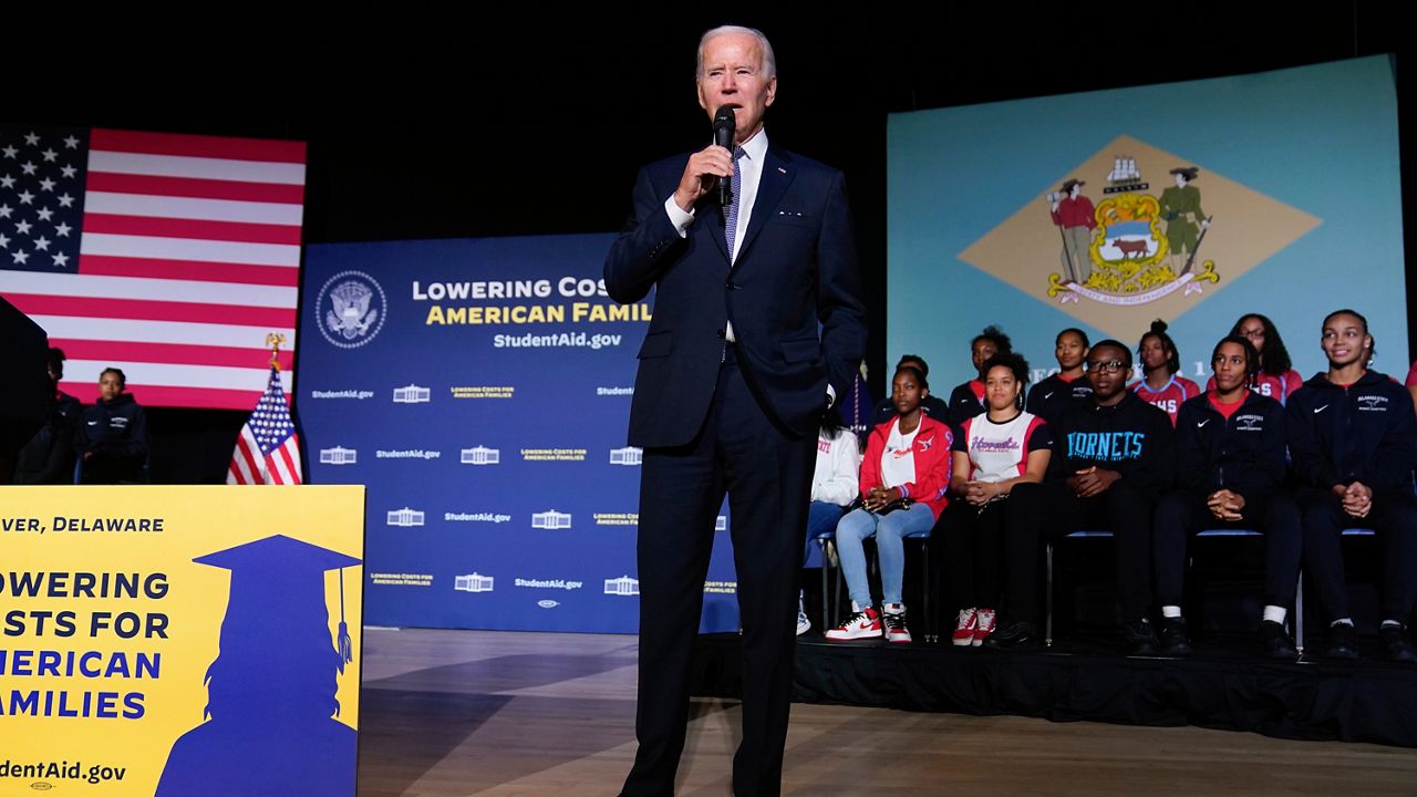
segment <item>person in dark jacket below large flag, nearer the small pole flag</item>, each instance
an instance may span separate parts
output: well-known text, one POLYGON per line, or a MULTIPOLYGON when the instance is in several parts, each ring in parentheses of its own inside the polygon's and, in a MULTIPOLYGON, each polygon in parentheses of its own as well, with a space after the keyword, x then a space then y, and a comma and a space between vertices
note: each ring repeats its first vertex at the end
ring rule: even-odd
POLYGON ((103 369, 98 377, 99 398, 84 408, 79 451, 84 484, 137 484, 147 462, 147 414, 125 393, 128 377, 119 369, 103 369))

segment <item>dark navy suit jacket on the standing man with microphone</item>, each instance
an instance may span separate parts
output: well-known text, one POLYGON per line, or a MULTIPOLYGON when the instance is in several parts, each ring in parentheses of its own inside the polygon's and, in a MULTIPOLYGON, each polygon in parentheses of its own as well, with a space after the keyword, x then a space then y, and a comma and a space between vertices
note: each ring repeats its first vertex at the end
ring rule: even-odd
POLYGON ((605 261, 605 288, 636 302, 656 288, 639 350, 629 444, 693 440, 708 411, 733 322, 740 363, 779 425, 815 434, 830 381, 846 396, 866 347, 866 311, 846 186, 836 169, 768 147, 738 260, 710 191, 680 238, 665 200, 689 156, 643 167, 605 261))

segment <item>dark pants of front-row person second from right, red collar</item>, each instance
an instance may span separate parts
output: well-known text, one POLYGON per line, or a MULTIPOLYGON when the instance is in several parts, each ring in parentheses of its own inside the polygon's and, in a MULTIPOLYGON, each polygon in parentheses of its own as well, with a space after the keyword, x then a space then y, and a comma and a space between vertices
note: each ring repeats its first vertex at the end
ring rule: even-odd
POLYGON ((1244 518, 1224 522, 1206 506, 1209 491, 1176 491, 1156 505, 1152 556, 1156 600, 1180 606, 1186 570, 1186 540, 1204 529, 1253 529, 1264 533, 1264 604, 1289 606, 1299 579, 1299 508, 1285 492, 1246 496, 1244 518))

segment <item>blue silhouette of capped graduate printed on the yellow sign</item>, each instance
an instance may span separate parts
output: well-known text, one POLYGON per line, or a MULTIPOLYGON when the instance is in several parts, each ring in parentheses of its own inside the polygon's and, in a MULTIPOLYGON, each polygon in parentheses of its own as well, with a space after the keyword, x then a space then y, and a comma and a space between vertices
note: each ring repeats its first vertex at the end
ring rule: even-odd
POLYGON ((156 794, 354 794, 357 736, 334 719, 353 659, 344 581, 332 642, 324 573, 360 560, 273 535, 193 562, 231 570, 221 652, 204 722, 173 743, 156 794))

